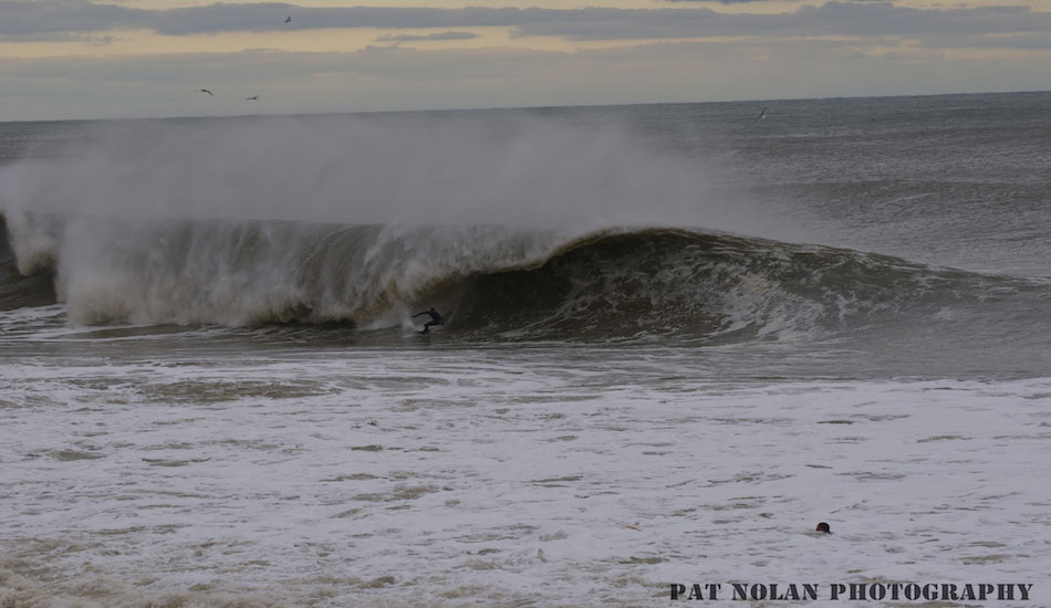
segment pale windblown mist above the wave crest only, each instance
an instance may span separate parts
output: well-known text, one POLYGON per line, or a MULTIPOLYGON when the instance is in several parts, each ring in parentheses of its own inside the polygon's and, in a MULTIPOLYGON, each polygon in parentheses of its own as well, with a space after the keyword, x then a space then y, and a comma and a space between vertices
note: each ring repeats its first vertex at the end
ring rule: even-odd
MULTIPOLYGON (((700 226, 737 205, 697 163, 621 127, 527 115, 103 124, 56 158, 7 167, 2 200, 8 212, 549 229, 700 226)), ((747 229, 743 211, 709 227, 747 229)))

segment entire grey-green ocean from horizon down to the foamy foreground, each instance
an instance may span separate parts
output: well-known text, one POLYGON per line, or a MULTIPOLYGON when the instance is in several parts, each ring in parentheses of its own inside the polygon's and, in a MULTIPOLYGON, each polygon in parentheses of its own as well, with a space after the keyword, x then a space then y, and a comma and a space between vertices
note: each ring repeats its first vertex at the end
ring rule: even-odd
POLYGON ((0 123, 0 605, 1051 605, 1049 234, 1051 93, 0 123))

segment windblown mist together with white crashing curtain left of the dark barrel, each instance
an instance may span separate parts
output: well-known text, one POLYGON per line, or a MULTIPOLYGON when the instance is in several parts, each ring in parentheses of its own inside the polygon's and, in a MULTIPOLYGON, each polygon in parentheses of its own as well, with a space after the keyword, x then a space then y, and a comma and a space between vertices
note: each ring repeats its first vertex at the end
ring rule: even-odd
POLYGON ((600 228, 753 221, 693 161, 526 115, 107 124, 0 184, 19 270, 89 323, 392 324, 600 228))

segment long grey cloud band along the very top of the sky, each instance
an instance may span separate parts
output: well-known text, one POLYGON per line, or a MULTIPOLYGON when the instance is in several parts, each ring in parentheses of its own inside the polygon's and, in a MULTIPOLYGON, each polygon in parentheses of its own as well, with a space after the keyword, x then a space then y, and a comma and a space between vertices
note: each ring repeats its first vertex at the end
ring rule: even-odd
MULTIPOLYGON (((732 1, 732 0, 730 0, 732 1)), ((626 40, 741 35, 1024 34, 1051 31, 1051 12, 1027 7, 919 10, 891 2, 804 6, 782 14, 728 14, 709 8, 517 9, 305 8, 288 3, 141 10, 87 0, 0 2, 0 35, 65 34, 147 28, 163 34, 318 28, 510 28, 516 35, 626 40), (284 18, 293 15, 291 23, 284 18)))

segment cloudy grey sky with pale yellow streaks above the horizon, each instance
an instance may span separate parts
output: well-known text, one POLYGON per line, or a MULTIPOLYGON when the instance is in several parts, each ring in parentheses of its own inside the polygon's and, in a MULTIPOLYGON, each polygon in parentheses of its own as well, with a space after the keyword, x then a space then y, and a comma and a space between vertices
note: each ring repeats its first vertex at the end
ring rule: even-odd
POLYGON ((1051 0, 0 0, 0 120, 1047 90, 1051 0))

